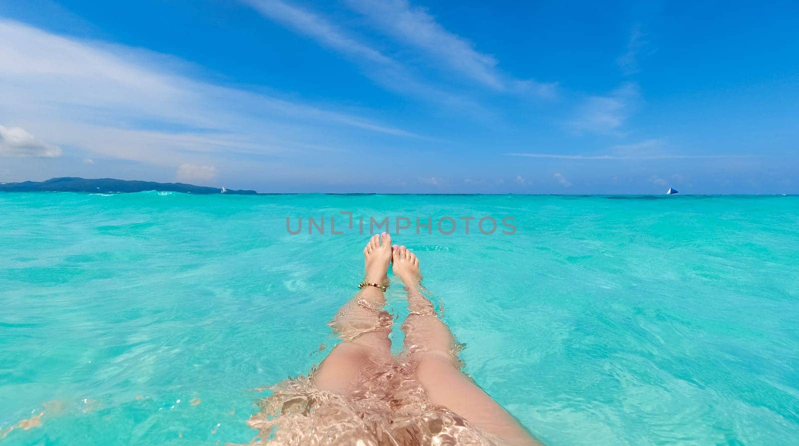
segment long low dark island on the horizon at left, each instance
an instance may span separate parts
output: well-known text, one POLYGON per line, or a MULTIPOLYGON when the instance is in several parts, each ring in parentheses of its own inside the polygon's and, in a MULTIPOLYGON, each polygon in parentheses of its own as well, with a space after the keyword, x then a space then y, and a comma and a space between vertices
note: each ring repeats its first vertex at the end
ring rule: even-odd
POLYGON ((225 189, 225 187, 195 186, 185 183, 156 183, 154 181, 117 180, 114 178, 99 178, 90 180, 73 176, 51 178, 46 181, 23 181, 22 183, 0 183, 0 191, 7 192, 142 192, 142 191, 169 191, 185 192, 189 194, 230 194, 230 195, 256 195, 256 191, 225 189))

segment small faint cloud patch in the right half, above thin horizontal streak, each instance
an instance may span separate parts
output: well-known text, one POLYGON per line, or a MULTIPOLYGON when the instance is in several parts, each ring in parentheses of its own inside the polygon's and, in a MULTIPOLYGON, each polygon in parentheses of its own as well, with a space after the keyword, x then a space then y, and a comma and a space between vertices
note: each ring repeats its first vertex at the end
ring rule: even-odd
POLYGON ((578 132, 618 133, 639 98, 638 85, 627 82, 606 96, 586 99, 570 125, 578 132))

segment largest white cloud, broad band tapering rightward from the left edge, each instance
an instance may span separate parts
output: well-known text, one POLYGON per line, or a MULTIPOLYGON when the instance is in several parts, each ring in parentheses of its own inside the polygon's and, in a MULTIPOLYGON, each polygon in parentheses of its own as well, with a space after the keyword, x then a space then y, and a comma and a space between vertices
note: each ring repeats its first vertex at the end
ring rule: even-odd
POLYGON ((179 61, 139 49, 4 19, 0 41, 0 122, 14 119, 104 156, 174 166, 188 161, 189 152, 209 163, 231 152, 301 156, 332 140, 346 150, 360 144, 358 132, 416 137, 349 112, 198 81, 174 69, 179 61), (142 122, 156 122, 159 130, 142 122))

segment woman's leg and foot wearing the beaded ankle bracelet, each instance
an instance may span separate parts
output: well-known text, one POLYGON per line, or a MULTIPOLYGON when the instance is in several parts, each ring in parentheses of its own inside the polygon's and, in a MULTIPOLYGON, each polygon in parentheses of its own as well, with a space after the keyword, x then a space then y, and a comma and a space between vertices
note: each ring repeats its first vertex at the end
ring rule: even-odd
MULTIPOLYGON (((364 258, 366 281, 388 286, 391 236, 383 233, 369 239, 364 258)), ((366 286, 340 308, 330 326, 344 342, 332 349, 314 373, 312 379, 318 389, 348 396, 393 361, 388 339, 392 317, 383 310, 385 303, 383 291, 366 286)))

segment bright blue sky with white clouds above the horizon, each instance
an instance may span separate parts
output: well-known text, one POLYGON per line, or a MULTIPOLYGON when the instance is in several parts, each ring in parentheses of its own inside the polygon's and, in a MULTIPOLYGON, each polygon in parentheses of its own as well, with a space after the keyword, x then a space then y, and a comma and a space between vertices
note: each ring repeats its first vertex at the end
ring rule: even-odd
POLYGON ((0 0, 0 181, 799 193, 799 3, 0 0))

